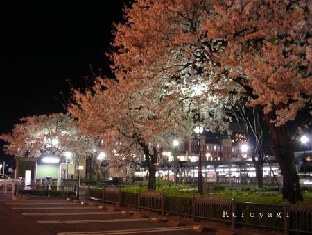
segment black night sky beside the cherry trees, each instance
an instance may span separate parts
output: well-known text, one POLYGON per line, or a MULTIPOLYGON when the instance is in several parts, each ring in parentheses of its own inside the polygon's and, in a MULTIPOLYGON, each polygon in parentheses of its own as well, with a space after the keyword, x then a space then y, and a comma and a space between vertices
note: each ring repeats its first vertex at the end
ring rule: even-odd
MULTIPOLYGON (((1 3, 0 133, 21 117, 64 112, 55 96, 69 94, 67 79, 83 86, 89 64, 110 75, 104 53, 125 2, 1 3)), ((0 152, 0 161, 10 158, 0 152)))

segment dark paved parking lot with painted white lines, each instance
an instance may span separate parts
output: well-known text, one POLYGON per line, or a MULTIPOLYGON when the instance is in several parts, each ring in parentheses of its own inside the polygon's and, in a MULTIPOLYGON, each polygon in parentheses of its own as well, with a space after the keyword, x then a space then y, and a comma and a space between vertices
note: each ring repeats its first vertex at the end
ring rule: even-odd
MULTIPOLYGON (((0 200, 0 234, 198 234, 67 200, 0 200)), ((137 214, 136 214, 137 215, 137 214)), ((207 233, 209 234, 209 233, 207 233)), ((214 233, 211 233, 214 234, 214 233)))

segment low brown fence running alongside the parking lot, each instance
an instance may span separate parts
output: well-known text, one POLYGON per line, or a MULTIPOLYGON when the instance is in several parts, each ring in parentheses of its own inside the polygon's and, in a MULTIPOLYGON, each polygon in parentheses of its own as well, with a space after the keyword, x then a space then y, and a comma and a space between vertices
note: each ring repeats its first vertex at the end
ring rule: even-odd
POLYGON ((284 234, 312 234, 312 205, 295 206, 173 197, 159 193, 129 193, 114 188, 80 186, 80 198, 103 203, 134 206, 137 209, 189 216, 193 220, 215 220, 237 225, 284 230, 284 234))

